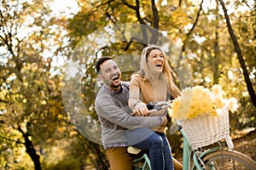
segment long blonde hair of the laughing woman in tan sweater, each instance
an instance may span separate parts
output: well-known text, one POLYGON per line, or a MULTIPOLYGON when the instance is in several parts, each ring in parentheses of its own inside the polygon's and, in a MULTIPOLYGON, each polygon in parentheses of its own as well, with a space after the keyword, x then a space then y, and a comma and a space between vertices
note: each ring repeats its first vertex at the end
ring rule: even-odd
POLYGON ((160 52, 164 55, 164 65, 163 65, 163 74, 166 77, 166 82, 168 84, 168 87, 171 88, 172 87, 172 68, 168 63, 168 60, 166 59, 166 54, 164 53, 164 51, 159 48, 156 45, 153 44, 148 44, 148 46, 146 48, 143 48, 143 53, 142 53, 142 57, 141 57, 141 68, 138 71, 139 74, 141 74, 144 78, 148 78, 149 80, 154 80, 154 77, 151 73, 151 71, 148 69, 148 54, 154 50, 154 49, 158 49, 160 50, 160 52))

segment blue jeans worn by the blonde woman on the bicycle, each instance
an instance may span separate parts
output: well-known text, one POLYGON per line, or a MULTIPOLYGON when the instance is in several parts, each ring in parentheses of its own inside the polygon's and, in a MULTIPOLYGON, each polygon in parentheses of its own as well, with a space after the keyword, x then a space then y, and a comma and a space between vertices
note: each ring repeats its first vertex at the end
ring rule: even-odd
POLYGON ((125 132, 128 144, 148 150, 152 170, 173 170, 172 151, 165 133, 158 133, 147 127, 125 132))

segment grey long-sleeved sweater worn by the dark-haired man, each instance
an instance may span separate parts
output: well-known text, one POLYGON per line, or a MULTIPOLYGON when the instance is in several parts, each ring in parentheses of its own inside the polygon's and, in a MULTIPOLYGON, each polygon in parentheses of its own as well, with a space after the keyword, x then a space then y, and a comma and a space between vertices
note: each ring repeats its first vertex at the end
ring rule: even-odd
POLYGON ((160 116, 131 116, 128 106, 129 84, 122 82, 122 91, 114 93, 105 84, 96 97, 96 113, 102 125, 102 144, 105 150, 128 146, 125 129, 159 127, 160 116))

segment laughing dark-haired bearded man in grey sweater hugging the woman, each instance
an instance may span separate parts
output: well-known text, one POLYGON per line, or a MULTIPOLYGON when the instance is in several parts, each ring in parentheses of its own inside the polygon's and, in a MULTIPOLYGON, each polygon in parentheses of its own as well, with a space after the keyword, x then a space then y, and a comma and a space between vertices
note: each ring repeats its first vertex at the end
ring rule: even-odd
POLYGON ((129 115, 129 85, 121 82, 121 71, 113 59, 99 59, 96 71, 104 82, 95 103, 102 124, 103 148, 112 170, 131 170, 133 158, 127 152, 129 145, 125 139, 125 129, 160 127, 166 123, 166 116, 129 115))

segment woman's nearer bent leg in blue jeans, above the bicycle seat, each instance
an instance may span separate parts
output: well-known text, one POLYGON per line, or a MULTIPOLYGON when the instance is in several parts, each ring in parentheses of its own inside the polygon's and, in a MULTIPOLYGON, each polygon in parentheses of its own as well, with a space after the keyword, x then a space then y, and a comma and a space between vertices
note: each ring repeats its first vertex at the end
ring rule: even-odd
POLYGON ((165 169, 163 139, 147 127, 127 130, 125 133, 128 144, 141 150, 149 151, 152 170, 165 169), (147 137, 147 138, 146 138, 147 137), (138 142, 135 142, 138 141, 138 142))

